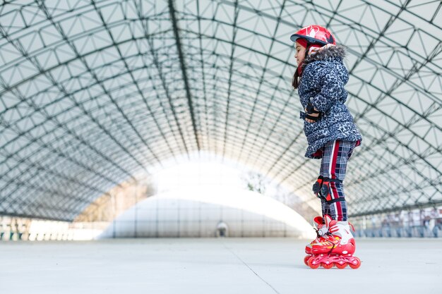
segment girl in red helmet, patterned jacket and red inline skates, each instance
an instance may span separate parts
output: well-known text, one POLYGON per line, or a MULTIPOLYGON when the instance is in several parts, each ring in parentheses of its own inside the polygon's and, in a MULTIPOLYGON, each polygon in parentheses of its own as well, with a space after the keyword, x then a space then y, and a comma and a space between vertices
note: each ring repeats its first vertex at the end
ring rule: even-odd
POLYGON ((342 182, 347 161, 362 136, 344 104, 347 99, 344 85, 348 81, 342 61, 345 47, 337 46, 335 37, 320 25, 303 27, 290 39, 296 42, 294 57, 298 65, 292 86, 298 90, 305 110, 301 111, 309 142, 305 156, 321 159, 313 192, 321 200, 323 216, 314 219, 318 238, 306 246, 308 256, 304 262, 313 268, 320 264, 323 267, 350 264, 356 268, 360 260, 352 257, 355 243, 347 221, 342 182), (328 255, 321 257, 323 253, 328 255))

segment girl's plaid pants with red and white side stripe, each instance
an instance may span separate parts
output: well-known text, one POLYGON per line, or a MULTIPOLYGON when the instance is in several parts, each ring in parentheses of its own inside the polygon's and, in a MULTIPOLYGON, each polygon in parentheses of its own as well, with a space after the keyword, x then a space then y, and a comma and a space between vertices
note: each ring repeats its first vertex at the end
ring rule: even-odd
MULTIPOLYGON (((333 178, 344 181, 347 161, 352 156, 356 142, 332 141, 322 148, 320 175, 324 178, 333 178)), ((332 200, 342 198, 341 201, 328 203, 321 197, 322 214, 328 214, 337 221, 347 221, 347 202, 344 200, 344 185, 340 182, 330 182, 330 196, 332 200)))

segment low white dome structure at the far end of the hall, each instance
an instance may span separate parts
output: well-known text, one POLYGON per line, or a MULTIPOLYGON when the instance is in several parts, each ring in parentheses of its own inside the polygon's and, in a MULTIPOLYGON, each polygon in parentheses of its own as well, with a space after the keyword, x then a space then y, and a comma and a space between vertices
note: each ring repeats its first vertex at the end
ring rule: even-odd
POLYGON ((100 238, 215 237, 313 238, 293 209, 257 192, 180 190, 139 202, 117 217, 100 238))

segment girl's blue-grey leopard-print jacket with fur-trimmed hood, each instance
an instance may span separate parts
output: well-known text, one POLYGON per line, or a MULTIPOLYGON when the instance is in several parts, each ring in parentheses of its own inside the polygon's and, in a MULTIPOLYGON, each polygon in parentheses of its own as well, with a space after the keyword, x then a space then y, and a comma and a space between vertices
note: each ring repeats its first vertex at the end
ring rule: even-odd
MULTIPOLYGON (((344 57, 345 47, 338 45, 311 54, 304 61, 306 66, 299 82, 299 99, 303 109, 310 100, 322 115, 315 123, 304 121, 304 133, 309 142, 305 157, 321 158, 317 151, 326 142, 362 141, 361 133, 344 104, 347 99, 344 85, 348 81, 348 71, 342 62, 344 57)), ((304 120, 305 115, 301 111, 300 118, 304 120)))

